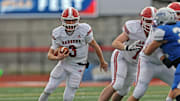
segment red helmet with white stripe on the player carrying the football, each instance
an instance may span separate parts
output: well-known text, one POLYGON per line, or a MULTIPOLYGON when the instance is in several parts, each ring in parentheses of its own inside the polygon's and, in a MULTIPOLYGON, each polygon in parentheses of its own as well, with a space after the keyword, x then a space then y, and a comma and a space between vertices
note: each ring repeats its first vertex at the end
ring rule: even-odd
POLYGON ((75 30, 76 26, 79 24, 79 19, 79 12, 73 7, 68 7, 61 15, 62 25, 69 32, 75 30))

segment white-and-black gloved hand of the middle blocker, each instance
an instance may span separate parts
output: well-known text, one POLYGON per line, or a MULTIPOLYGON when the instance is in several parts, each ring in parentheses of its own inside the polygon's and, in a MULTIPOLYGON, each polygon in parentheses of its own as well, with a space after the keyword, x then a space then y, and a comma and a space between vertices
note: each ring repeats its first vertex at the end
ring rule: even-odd
POLYGON ((126 45, 124 47, 124 50, 126 51, 133 51, 133 50, 139 50, 143 47, 143 44, 141 42, 141 40, 137 40, 134 43, 130 44, 130 45, 126 45))

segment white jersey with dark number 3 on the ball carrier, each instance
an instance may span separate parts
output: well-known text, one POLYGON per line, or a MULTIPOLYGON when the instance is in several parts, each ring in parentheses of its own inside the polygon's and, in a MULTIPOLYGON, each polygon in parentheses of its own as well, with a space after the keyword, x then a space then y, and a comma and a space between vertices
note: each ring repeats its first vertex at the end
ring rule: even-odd
POLYGON ((93 32, 90 25, 80 23, 71 35, 67 34, 65 27, 59 26, 53 30, 52 37, 52 49, 64 46, 70 50, 69 56, 62 61, 69 64, 87 62, 88 43, 93 40, 93 32))

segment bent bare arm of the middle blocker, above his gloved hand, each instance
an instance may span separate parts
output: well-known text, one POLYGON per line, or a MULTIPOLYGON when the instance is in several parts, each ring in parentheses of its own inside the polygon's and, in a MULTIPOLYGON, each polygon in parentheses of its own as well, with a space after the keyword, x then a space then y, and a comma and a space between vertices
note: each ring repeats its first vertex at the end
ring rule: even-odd
POLYGON ((125 50, 125 45, 123 42, 127 41, 129 39, 126 32, 122 32, 113 42, 112 47, 119 49, 119 50, 125 50))

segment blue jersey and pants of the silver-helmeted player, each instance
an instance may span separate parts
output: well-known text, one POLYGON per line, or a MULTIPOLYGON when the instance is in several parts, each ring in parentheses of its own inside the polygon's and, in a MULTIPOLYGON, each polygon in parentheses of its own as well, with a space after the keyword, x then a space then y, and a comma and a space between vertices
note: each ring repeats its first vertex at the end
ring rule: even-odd
POLYGON ((154 31, 154 40, 167 40, 167 43, 161 45, 164 53, 168 54, 168 59, 176 67, 172 89, 180 89, 180 22, 172 25, 160 25, 154 31))

